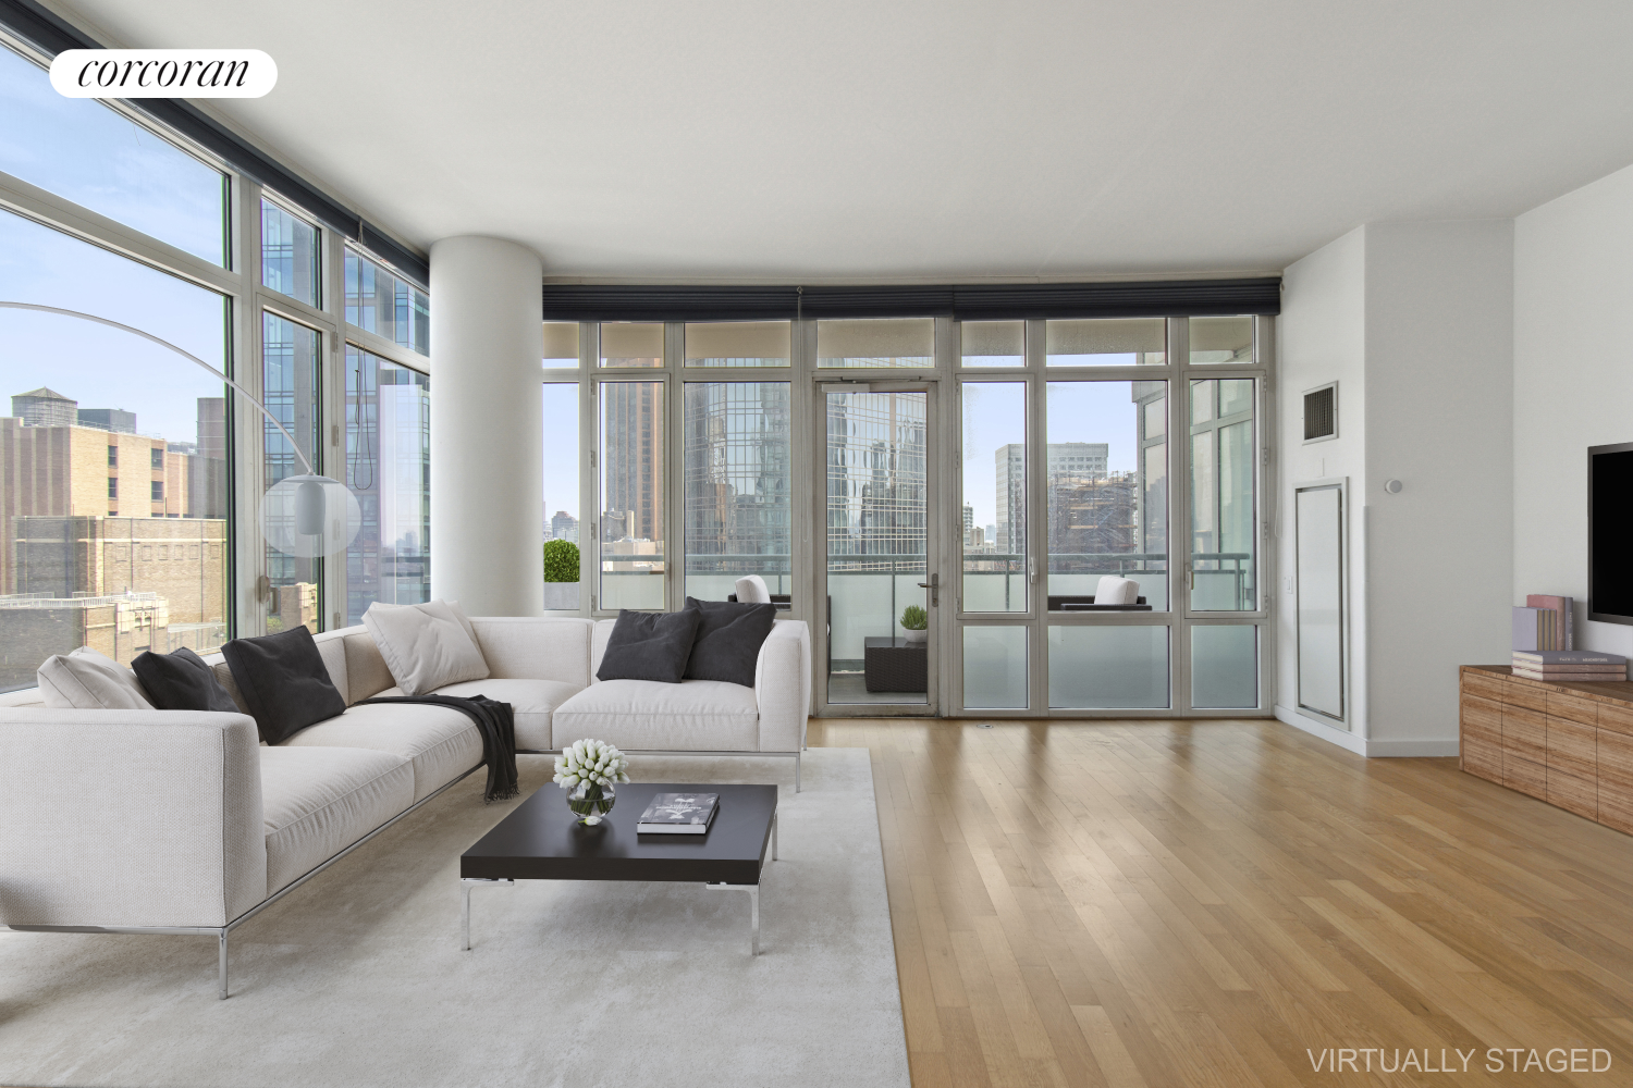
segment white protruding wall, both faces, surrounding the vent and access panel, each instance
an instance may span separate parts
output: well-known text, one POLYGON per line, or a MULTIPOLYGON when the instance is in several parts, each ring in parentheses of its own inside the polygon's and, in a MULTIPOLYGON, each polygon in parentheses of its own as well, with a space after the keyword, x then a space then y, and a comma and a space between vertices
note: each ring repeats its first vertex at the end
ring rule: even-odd
POLYGON ((1277 716, 1352 750, 1455 754, 1457 667, 1509 652, 1512 268, 1512 223, 1473 220, 1372 223, 1285 272, 1280 568, 1293 488, 1347 476, 1350 736, 1292 713, 1285 579, 1277 716), (1303 391, 1334 378, 1339 437, 1305 445, 1303 391))

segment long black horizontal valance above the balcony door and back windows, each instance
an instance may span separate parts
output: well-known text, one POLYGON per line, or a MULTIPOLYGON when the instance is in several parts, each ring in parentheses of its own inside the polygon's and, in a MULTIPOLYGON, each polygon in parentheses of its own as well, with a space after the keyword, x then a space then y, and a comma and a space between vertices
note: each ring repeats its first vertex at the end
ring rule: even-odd
POLYGON ((545 321, 753 321, 794 316, 952 316, 981 321, 1280 312, 1280 276, 861 287, 544 285, 545 321))

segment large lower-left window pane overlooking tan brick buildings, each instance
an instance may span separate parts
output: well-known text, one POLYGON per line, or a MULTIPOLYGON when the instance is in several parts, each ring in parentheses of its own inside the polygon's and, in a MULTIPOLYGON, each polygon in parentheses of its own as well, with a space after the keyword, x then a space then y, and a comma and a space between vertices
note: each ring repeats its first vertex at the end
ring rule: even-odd
MULTIPOLYGON (((0 210, 0 300, 150 329, 220 367, 222 295, 0 210)), ((0 688, 90 646, 227 638, 219 378, 119 329, 0 310, 0 688)))

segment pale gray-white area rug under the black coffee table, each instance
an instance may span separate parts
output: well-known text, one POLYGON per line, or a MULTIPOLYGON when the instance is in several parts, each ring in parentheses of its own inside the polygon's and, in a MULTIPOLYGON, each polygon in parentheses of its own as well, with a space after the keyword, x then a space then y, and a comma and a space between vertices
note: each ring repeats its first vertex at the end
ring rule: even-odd
POLYGON ((212 938, 0 930, 0 1083, 906 1086, 867 752, 632 778, 779 783, 758 958, 748 896, 629 882, 477 889, 462 951, 459 855, 513 809, 477 773, 235 930, 225 1002, 212 938))

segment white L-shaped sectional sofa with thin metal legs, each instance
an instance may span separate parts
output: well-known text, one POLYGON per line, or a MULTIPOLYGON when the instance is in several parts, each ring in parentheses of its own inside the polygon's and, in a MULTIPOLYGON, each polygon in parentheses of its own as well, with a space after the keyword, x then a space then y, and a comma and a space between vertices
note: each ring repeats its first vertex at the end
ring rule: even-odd
MULTIPOLYGON (((594 679, 612 620, 474 618, 492 675, 441 688, 516 710, 516 745, 580 737, 627 752, 772 754, 805 744, 810 636, 777 620, 754 687, 594 679)), ((454 710, 397 695, 363 626, 315 638, 345 713, 284 742, 248 714, 51 710, 0 697, 0 925, 220 940, 274 899, 482 765, 454 710)), ((216 674, 230 683, 219 656, 216 674)))

